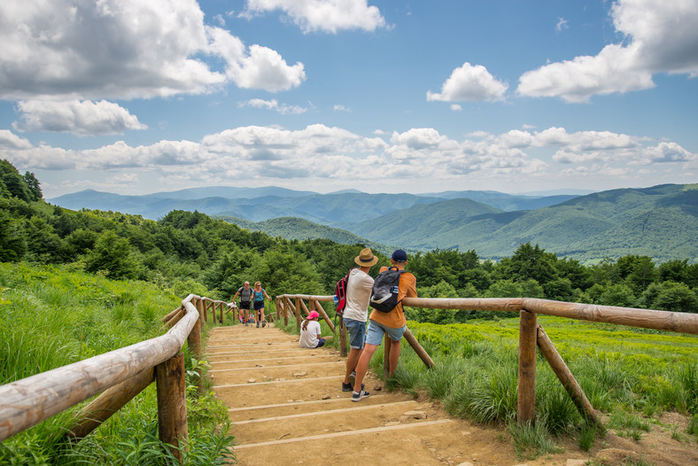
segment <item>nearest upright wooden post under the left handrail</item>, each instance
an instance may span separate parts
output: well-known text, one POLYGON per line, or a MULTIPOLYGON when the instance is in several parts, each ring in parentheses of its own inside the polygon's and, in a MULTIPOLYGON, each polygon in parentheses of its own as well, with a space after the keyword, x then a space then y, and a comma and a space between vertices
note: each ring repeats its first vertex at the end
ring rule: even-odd
POLYGON ((184 389, 184 355, 177 354, 155 366, 158 391, 159 439, 171 445, 170 452, 182 462, 181 447, 189 439, 187 431, 187 401, 184 389), (182 446, 180 442, 182 441, 182 446))

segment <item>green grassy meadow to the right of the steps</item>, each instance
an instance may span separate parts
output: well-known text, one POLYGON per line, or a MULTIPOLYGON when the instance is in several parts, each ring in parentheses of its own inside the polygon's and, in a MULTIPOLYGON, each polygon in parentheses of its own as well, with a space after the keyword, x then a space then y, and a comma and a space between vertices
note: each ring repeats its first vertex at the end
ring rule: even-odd
MULTIPOLYGON (((516 424, 518 318, 495 314, 494 320, 471 322, 407 322, 435 367, 426 369, 403 340, 398 370, 388 387, 415 396, 426 393, 452 416, 506 426, 523 457, 559 451, 555 439, 561 436, 573 437, 582 450, 593 447, 605 432, 586 424, 540 353, 537 423, 516 424)), ((605 415, 608 429, 641 439, 664 411, 675 411, 691 419, 675 438, 698 442, 698 336, 546 315, 539 315, 538 322, 593 407, 605 415)), ((321 324, 322 335, 330 334, 327 324, 321 324)), ((289 322, 287 331, 298 333, 295 322, 289 322)), ((329 346, 338 349, 338 338, 329 346)), ((383 346, 370 367, 382 377, 383 346)))

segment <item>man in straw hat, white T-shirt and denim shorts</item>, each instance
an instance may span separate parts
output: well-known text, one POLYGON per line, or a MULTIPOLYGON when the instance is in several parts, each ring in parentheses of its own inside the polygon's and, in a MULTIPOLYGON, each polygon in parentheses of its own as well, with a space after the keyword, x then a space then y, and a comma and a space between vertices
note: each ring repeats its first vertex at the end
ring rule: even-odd
POLYGON ((354 262, 359 268, 353 268, 346 281, 346 307, 343 314, 346 331, 349 334, 349 355, 346 358, 343 392, 353 391, 356 363, 361 357, 366 342, 366 321, 368 320, 368 299, 371 297, 373 278, 368 272, 378 262, 378 258, 367 247, 361 250, 354 262))

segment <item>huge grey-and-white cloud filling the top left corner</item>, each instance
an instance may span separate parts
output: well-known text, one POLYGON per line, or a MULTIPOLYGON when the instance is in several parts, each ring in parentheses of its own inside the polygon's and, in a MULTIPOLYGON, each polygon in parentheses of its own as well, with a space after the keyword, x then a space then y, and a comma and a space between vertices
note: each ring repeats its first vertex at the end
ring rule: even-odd
POLYGON ((305 80, 302 64, 206 26, 195 0, 6 0, 0 43, 6 99, 167 97, 229 82, 276 91, 305 80))

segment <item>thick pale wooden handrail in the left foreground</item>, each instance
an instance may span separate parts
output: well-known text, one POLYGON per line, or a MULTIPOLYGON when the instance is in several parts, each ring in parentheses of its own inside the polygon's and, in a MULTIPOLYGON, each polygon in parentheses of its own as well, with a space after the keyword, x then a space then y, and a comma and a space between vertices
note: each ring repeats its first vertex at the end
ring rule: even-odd
POLYGON ((182 306, 186 315, 161 337, 0 386, 0 441, 174 357, 199 321, 196 307, 182 306))

